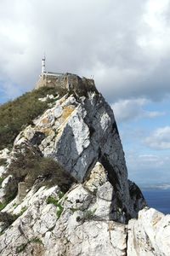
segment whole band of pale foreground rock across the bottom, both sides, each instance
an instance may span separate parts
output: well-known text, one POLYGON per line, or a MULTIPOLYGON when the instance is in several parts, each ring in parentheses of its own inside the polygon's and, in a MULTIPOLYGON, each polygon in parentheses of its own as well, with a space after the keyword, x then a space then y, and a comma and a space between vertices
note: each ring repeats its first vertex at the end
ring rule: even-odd
POLYGON ((75 184, 64 195, 59 186, 32 187, 23 202, 14 200, 2 211, 16 220, 9 229, 0 226, 0 254, 169 255, 170 215, 144 208, 138 219, 117 223, 107 218, 108 204, 99 200, 111 198, 103 185, 100 188, 101 193, 94 195, 83 184, 75 184))

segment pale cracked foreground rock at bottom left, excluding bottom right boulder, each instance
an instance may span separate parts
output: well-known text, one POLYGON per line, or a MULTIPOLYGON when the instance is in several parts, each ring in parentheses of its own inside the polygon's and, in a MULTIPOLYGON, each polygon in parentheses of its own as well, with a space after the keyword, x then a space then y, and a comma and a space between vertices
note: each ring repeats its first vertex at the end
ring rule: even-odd
POLYGON ((1 255, 37 255, 37 244, 41 255, 126 255, 126 226, 98 219, 94 197, 81 184, 60 200, 58 187, 31 189, 19 206, 3 209, 25 212, 1 236, 1 255), (52 197, 56 205, 48 203, 52 197))

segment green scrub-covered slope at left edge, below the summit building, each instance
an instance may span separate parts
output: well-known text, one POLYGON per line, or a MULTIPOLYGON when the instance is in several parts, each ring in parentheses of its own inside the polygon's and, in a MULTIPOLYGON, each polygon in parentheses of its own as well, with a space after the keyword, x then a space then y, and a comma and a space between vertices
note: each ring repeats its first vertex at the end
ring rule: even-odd
POLYGON ((54 100, 41 102, 40 97, 57 95, 55 88, 42 87, 27 92, 12 102, 0 106, 0 150, 12 148, 15 137, 26 126, 32 124, 32 119, 42 114, 48 108, 48 103, 54 100))

